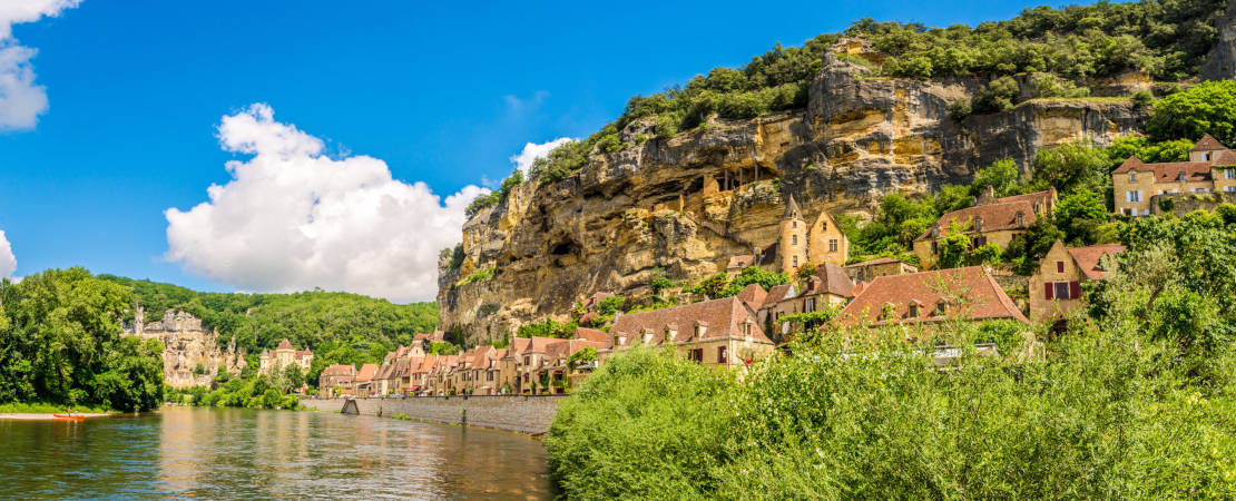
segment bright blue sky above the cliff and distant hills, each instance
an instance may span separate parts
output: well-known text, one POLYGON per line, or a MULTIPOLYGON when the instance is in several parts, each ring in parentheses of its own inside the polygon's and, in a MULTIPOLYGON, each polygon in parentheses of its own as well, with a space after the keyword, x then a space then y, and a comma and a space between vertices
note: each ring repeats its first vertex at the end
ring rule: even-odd
MULTIPOLYGON (((12 1, 68 0, 0 0, 12 1)), ((330 255, 265 276, 271 257, 246 266, 246 252, 289 251, 272 242, 215 252, 221 240, 256 239, 231 233, 216 215, 198 218, 204 236, 180 241, 205 250, 187 247, 168 261, 164 212, 209 202, 208 187, 232 181, 229 161, 258 168, 252 152, 220 146, 224 116, 256 118, 255 127, 267 131, 294 126, 323 141, 320 152, 300 160, 373 157, 396 188, 424 182, 445 198, 506 177, 509 158, 528 142, 586 136, 634 94, 740 66, 779 41, 798 45, 864 16, 973 25, 1033 5, 84 0, 59 16, 16 24, 7 41, 0 38, 0 48, 37 49, 28 68, 48 101, 33 127, 0 131, 0 230, 17 260, 15 276, 80 265, 210 291, 297 289, 316 280, 326 288, 425 299, 435 292, 424 283, 431 270, 407 278, 412 289, 403 292, 366 287, 363 273, 335 280, 305 272, 332 266, 330 255), (273 119, 263 121, 255 103, 267 104, 273 119), (205 263, 206 254, 226 257, 205 263)), ((0 7, 0 24, 14 21, 2 16, 0 7)), ((261 218, 271 205, 255 207, 261 218)), ((396 218, 371 230, 457 240, 457 220, 425 226, 396 218)), ((182 230, 194 233, 190 223, 182 230)), ((373 262, 431 266, 386 256, 373 262)))

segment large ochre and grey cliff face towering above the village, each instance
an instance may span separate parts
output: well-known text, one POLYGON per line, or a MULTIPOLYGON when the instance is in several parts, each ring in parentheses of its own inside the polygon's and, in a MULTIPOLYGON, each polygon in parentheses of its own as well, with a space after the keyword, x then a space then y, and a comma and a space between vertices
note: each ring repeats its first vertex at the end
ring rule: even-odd
POLYGON ((985 80, 864 72, 829 56, 803 111, 713 120, 638 145, 653 134, 637 121, 620 132, 630 147, 595 152, 560 182, 520 184, 465 224, 462 266, 440 262, 441 328, 501 338, 528 322, 561 320, 593 292, 639 294, 661 272, 693 281, 723 271, 729 256, 776 242, 789 194, 807 220, 821 210, 866 218, 887 193, 967 183, 1005 157, 1026 171, 1039 148, 1109 143, 1146 119, 1127 101, 1093 99, 1028 100, 957 121, 949 104, 985 80), (492 278, 456 286, 486 268, 492 278))

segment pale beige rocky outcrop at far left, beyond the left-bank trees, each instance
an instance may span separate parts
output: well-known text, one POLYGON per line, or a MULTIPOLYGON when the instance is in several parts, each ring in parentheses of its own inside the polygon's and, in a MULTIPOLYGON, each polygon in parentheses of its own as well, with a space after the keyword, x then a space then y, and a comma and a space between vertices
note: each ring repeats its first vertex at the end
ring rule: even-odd
POLYGON ((219 332, 205 330, 201 319, 185 312, 169 309, 161 322, 145 323, 145 312, 138 308, 126 333, 163 343, 163 382, 174 388, 206 386, 219 367, 235 375, 246 365, 243 351, 236 351, 235 339, 227 351, 219 349, 219 332), (194 374, 199 364, 201 374, 194 374))

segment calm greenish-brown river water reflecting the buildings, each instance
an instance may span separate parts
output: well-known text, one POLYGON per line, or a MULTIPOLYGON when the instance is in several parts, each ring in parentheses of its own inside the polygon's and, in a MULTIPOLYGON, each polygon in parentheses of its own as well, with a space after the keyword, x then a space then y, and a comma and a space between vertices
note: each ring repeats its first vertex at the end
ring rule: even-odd
POLYGON ((514 433, 328 412, 166 407, 82 423, 0 421, 0 499, 556 495, 514 433))

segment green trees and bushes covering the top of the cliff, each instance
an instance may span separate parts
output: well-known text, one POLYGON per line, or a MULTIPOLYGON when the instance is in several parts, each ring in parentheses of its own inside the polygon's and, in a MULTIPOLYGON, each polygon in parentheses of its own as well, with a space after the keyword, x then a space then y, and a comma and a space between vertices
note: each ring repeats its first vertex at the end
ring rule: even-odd
MULTIPOLYGON (((865 38, 876 51, 889 56, 883 64, 875 64, 860 57, 838 54, 876 75, 991 78, 973 101, 962 99, 949 106, 954 119, 963 119, 971 113, 1011 109, 1017 104, 1020 90, 1009 77, 1023 73, 1037 74, 1031 80, 1031 90, 1032 96, 1038 98, 1085 96, 1089 94, 1085 85, 1093 79, 1130 69, 1145 68, 1156 80, 1178 82, 1193 77, 1217 38, 1214 26, 1222 9, 1222 0, 1103 1, 1063 9, 1041 6, 1007 21, 947 28, 864 19, 844 33, 823 33, 801 47, 777 43, 742 68, 713 68, 685 85, 649 96, 637 95, 627 103, 622 115, 602 130, 585 141, 559 146, 548 158, 538 160, 529 178, 557 182, 583 168, 593 151, 614 152, 632 146, 618 132, 637 120, 650 120, 651 134, 669 139, 706 124, 713 115, 750 119, 802 109, 807 105, 812 78, 842 36, 865 38)), ((1138 99, 1148 103, 1148 98, 1138 99)), ((1173 134, 1167 139, 1192 137, 1173 134)), ((632 141, 643 142, 639 136, 632 141)), ((478 197, 470 215, 498 200, 501 197, 494 194, 478 197)))

